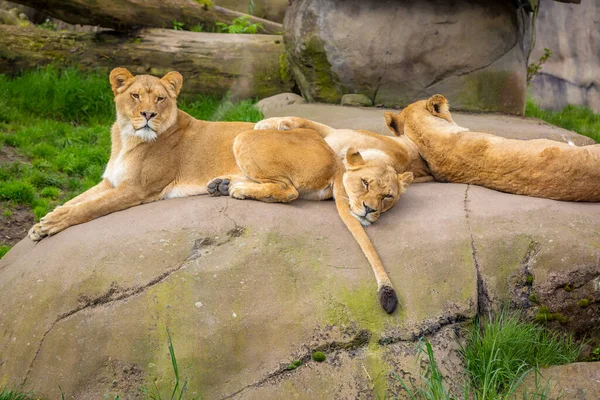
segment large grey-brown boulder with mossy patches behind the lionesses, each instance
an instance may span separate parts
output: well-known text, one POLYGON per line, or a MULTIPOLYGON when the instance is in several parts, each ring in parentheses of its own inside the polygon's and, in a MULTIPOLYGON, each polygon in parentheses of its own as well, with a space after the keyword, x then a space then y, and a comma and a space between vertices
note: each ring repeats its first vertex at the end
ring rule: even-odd
POLYGON ((284 38, 308 101, 443 93, 455 109, 523 114, 531 15, 505 0, 296 0, 284 38))

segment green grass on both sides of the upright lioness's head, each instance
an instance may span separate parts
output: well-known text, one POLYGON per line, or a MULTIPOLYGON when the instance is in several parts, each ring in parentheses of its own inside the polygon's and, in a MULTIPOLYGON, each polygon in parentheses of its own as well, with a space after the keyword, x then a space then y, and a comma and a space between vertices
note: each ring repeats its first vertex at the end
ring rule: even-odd
MULTIPOLYGON (((180 108, 204 120, 262 118, 252 101, 197 97, 180 108)), ((108 77, 53 68, 0 75, 0 109, 0 148, 14 147, 29 160, 0 164, 1 212, 24 204, 38 220, 100 181, 115 118, 108 77)), ((0 257, 6 251, 0 238, 0 257)))

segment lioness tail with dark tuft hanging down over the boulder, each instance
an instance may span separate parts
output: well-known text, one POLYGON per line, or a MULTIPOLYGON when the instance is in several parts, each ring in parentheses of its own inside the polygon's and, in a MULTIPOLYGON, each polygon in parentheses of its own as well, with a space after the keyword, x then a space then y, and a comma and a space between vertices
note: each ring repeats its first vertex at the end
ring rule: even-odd
POLYGON ((333 184, 333 196, 337 211, 350 233, 352 233, 352 236, 354 236, 365 257, 369 260, 369 264, 371 264, 375 279, 377 280, 377 293, 379 294, 381 307, 383 307, 385 312, 391 314, 398 306, 398 296, 363 226, 350 214, 350 208, 346 200, 347 194, 342 182, 342 173, 340 172, 337 175, 333 184))

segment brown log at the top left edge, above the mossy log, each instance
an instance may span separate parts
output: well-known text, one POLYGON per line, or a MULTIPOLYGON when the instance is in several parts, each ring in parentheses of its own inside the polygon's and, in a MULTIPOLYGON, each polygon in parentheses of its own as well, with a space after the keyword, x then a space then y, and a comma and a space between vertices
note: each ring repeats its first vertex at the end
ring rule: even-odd
MULTIPOLYGON (((214 6, 209 0, 11 0, 70 24, 100 25, 116 30, 168 28, 173 21, 185 28, 203 25, 210 30, 215 22, 231 24, 244 13, 214 6)), ((249 16, 263 25, 266 34, 280 34, 281 24, 249 16)))

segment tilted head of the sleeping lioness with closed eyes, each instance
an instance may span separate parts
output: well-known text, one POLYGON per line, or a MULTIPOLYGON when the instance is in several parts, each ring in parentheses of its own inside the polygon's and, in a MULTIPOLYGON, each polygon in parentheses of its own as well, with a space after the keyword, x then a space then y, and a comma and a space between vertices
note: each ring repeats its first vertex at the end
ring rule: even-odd
POLYGON ((365 160, 353 148, 346 152, 344 165, 350 212, 364 226, 392 208, 413 180, 412 172, 398 174, 383 160, 365 160))

